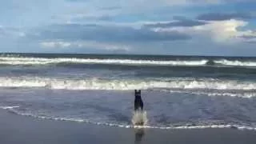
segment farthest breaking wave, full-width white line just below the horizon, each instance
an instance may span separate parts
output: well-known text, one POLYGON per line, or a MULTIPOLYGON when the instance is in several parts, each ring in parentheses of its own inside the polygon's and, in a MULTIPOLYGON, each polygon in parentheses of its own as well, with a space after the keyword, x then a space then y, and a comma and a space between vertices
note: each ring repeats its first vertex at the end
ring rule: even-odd
POLYGON ((131 66, 246 66, 256 67, 256 61, 238 60, 143 60, 143 59, 100 59, 100 58, 24 58, 0 56, 0 65, 51 65, 51 64, 108 64, 131 66))

